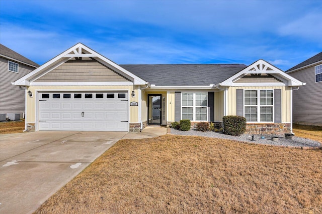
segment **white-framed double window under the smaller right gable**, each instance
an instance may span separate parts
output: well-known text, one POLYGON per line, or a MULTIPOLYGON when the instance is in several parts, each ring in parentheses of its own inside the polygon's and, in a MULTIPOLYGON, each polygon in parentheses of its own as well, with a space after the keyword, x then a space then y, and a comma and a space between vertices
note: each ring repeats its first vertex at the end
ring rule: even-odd
POLYGON ((273 122, 273 90, 245 90, 247 122, 273 122))

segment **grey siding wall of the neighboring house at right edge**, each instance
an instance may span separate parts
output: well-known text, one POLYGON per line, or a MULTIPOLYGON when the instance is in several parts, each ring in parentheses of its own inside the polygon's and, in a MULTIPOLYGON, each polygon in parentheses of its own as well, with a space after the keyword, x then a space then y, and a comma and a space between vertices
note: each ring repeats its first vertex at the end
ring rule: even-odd
POLYGON ((293 91, 293 122, 322 125, 322 82, 315 83, 315 66, 288 73, 305 82, 293 91))

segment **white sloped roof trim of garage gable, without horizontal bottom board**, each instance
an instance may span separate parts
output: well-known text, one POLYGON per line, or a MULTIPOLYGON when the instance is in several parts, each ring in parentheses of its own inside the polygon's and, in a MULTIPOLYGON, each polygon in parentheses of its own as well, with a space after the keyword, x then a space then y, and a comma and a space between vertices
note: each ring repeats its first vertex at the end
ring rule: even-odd
POLYGON ((113 61, 107 59, 106 57, 100 55, 99 53, 93 51, 89 47, 83 45, 82 43, 77 43, 73 47, 67 49, 63 53, 59 54, 58 56, 54 57, 53 59, 49 60, 42 66, 38 67, 34 71, 28 73, 24 77, 18 79, 15 81, 15 85, 20 85, 20 86, 29 86, 29 81, 34 81, 38 79, 38 77, 33 77, 36 75, 38 72, 44 71, 47 69, 50 65, 54 64, 56 61, 58 61, 61 58, 73 58, 73 57, 94 57, 96 58, 99 62, 103 63, 104 65, 108 66, 109 68, 112 68, 112 70, 120 73, 121 75, 127 77, 128 79, 132 80, 134 85, 145 85, 145 81, 136 75, 132 74, 131 72, 125 70, 118 64, 114 63, 113 61), (84 52, 84 53, 83 53, 84 52), (28 83, 26 82, 28 81, 28 83), (26 85, 28 84, 28 85, 26 85))

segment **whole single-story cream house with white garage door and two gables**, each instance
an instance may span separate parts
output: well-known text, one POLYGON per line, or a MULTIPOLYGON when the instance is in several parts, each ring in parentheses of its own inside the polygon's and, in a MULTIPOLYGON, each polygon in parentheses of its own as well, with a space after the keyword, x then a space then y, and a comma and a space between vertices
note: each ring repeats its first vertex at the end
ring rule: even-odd
POLYGON ((118 65, 78 43, 14 84, 30 93, 27 130, 140 131, 240 115, 250 133, 281 134, 291 132, 292 90, 304 83, 264 60, 118 65))

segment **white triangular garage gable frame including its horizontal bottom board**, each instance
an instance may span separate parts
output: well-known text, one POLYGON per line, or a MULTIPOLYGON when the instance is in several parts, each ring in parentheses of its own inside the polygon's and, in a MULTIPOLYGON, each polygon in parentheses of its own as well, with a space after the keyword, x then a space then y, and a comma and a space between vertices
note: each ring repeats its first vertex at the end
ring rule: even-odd
POLYGON ((96 85, 96 84, 109 84, 109 85, 146 85, 146 81, 137 77, 136 75, 130 73, 129 71, 125 70, 124 68, 120 67, 113 61, 105 58, 104 56, 100 55, 99 53, 93 51, 89 47, 83 45, 82 43, 78 43, 73 47, 69 48, 68 50, 64 51, 60 55, 56 56, 55 58, 51 59, 50 61, 46 62, 39 68, 35 69, 31 73, 27 74, 26 76, 20 78, 19 80, 15 81, 14 85, 19 86, 31 86, 31 85, 42 85, 43 82, 47 82, 48 85, 96 85), (121 76, 122 82, 89 82, 89 81, 79 81, 79 82, 51 82, 49 83, 48 80, 44 81, 44 76, 49 72, 56 72, 57 69, 61 69, 61 66, 67 62, 96 62, 101 67, 106 68, 102 70, 102 72, 111 72, 114 73, 116 76, 121 76), (81 82, 81 83, 80 83, 81 82))

